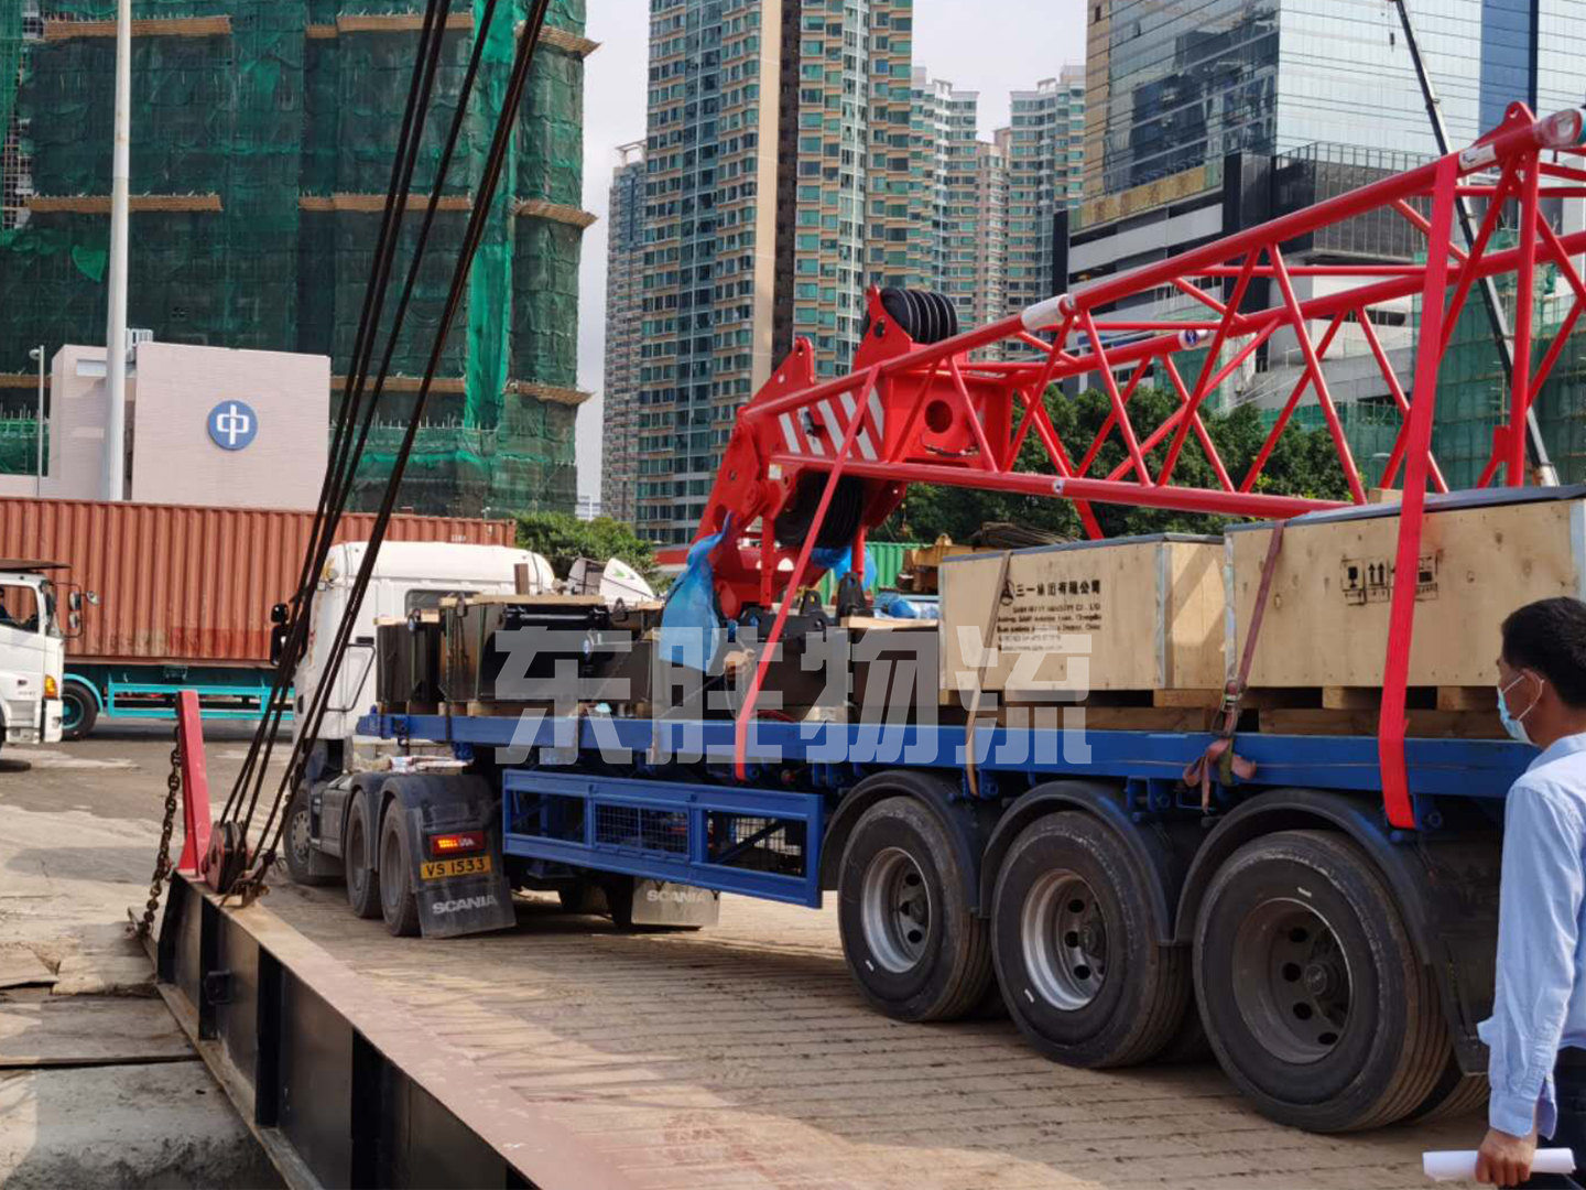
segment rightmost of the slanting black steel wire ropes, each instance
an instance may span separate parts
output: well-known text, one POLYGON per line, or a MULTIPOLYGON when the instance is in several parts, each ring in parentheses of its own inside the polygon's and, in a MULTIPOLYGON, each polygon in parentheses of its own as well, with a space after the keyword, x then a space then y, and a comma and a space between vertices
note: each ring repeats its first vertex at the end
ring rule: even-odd
MULTIPOLYGON (((501 167, 506 162, 506 151, 517 125, 519 109, 522 108, 523 102, 523 90, 528 84, 528 71, 534 60, 534 51, 539 46, 539 36, 546 22, 547 6, 549 0, 533 0, 533 6, 530 8, 523 32, 519 38, 517 59, 512 65, 512 78, 508 86, 506 98, 501 105, 501 113, 496 119, 495 135, 490 144, 490 155, 487 159, 485 171, 481 179, 481 189, 476 194, 473 209, 469 211, 468 230, 465 232, 463 248, 462 252, 458 254, 457 265, 452 271, 452 286, 450 292, 447 294, 446 308, 441 316, 441 324, 436 330, 435 344, 431 346, 430 360, 428 365, 425 367, 425 374, 419 386, 419 395, 414 400, 414 408, 409 416, 408 428, 403 435, 401 446, 398 447, 392 463, 392 474, 385 484, 385 493, 381 500, 379 512, 376 512, 374 525, 370 530, 370 549, 365 551, 363 560, 358 566, 358 576, 354 581, 352 595, 347 601, 346 612, 341 617, 341 624, 338 625, 335 644, 331 644, 328 654, 327 671, 333 670, 339 663, 341 655, 346 652, 347 643, 352 635, 352 627, 357 620, 357 614, 363 603, 363 595, 368 590, 370 579, 373 578, 374 573, 374 559, 379 554, 381 541, 384 541, 385 528, 390 524, 392 511, 396 506, 396 493, 401 486, 403 473, 406 471, 408 459, 412 454, 414 441, 417 440, 419 425, 422 422, 425 406, 428 405, 430 387, 433 386, 435 374, 441 365, 441 354, 446 347, 446 338, 450 333, 452 322, 455 321, 458 306, 462 305, 463 290, 468 284, 468 276, 473 270, 474 255, 479 249, 481 240, 484 238, 484 228, 490 217, 490 208, 495 203, 496 187, 501 179, 501 167)), ((281 785, 276 790, 276 797, 270 806, 270 814, 265 819, 265 825, 260 831, 260 838, 268 838, 270 843, 260 852, 257 865, 252 868, 252 871, 249 871, 243 877, 243 881, 239 881, 239 884, 247 884, 257 889, 257 885, 263 881, 265 873, 270 869, 270 865, 274 862, 276 847, 281 841, 281 830, 285 825, 285 816, 281 816, 279 822, 276 820, 276 816, 281 811, 281 804, 287 790, 290 790, 297 782, 298 771, 301 768, 301 757, 300 757, 303 750, 301 743, 305 739, 311 739, 319 730, 319 724, 325 714, 327 698, 328 698, 328 685, 322 684, 314 692, 314 704, 309 711, 306 728, 298 735, 298 739, 295 741, 293 762, 289 763, 285 774, 282 774, 281 785)), ((249 817, 243 822, 244 838, 251 827, 252 827, 252 814, 249 814, 249 817)))

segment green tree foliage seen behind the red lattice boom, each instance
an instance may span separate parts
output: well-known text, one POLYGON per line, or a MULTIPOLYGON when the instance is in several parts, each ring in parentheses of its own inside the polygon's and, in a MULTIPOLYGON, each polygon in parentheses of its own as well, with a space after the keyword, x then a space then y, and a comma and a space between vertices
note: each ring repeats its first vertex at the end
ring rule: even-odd
MULTIPOLYGON (((1078 397, 1061 393, 1047 397, 1053 428, 1075 463, 1083 459, 1091 441, 1101 432, 1110 408, 1107 395, 1096 389, 1078 397)), ((1142 387, 1129 398, 1129 414, 1136 427, 1161 425, 1175 408, 1178 408, 1178 398, 1161 389, 1142 387)), ((1202 419, 1223 465, 1237 486, 1266 441, 1267 432, 1261 425, 1261 414, 1253 406, 1243 406, 1228 414, 1202 411, 1202 419)), ((1159 474, 1172 435, 1147 454, 1153 476, 1159 474)), ((1113 428, 1086 474, 1098 479, 1105 478, 1126 459, 1123 436, 1113 428)), ((1034 430, 1020 451, 1018 468, 1036 473, 1052 471, 1052 463, 1047 462, 1034 430)), ((1134 473, 1131 471, 1128 478, 1132 479, 1134 473)), ((1209 489, 1218 486, 1216 473, 1193 433, 1178 455, 1174 484, 1209 489)), ((1348 481, 1339 466, 1339 455, 1327 432, 1294 425, 1278 438, 1272 457, 1256 479, 1255 490, 1318 500, 1350 498, 1348 481)), ((1107 536, 1218 533, 1228 520, 1228 517, 1202 512, 1177 512, 1129 505, 1093 505, 1091 508, 1107 536)), ((877 541, 934 541, 945 533, 955 541, 964 541, 980 525, 991 520, 1009 520, 1067 538, 1085 536, 1078 512, 1069 500, 929 484, 912 484, 902 506, 872 536, 877 541)))

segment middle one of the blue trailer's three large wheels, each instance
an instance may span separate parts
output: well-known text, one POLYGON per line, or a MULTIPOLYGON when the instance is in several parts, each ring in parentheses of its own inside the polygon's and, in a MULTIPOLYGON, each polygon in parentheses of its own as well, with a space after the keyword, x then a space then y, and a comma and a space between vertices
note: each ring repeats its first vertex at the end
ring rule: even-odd
POLYGON ((1069 1066, 1147 1061, 1190 1008, 1186 947, 1161 946, 1123 839, 1090 814, 1026 827, 998 873, 991 954, 1020 1031, 1069 1066))

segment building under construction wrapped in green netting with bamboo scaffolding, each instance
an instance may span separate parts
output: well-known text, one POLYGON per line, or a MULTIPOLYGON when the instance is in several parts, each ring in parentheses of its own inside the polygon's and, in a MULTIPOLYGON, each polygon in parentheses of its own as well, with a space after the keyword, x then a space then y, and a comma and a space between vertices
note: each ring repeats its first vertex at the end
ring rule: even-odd
MULTIPOLYGON (((335 414, 423 8, 133 0, 128 325, 159 341, 330 355, 335 414)), ((512 19, 490 24, 357 506, 379 500, 425 371, 522 8, 512 0, 512 19)), ((416 195, 435 181, 455 114, 447 97, 460 92, 482 10, 484 0, 450 5, 416 195)), ((593 221, 579 206, 584 57, 595 49, 584 16, 584 0, 552 0, 506 184, 408 463, 401 505, 416 511, 573 509, 573 425, 585 397, 574 387, 577 267, 593 221)), ((0 5, 0 374, 17 408, 32 406, 32 346, 103 341, 114 52, 114 0, 0 5)), ((420 214, 414 198, 398 270, 420 214)))

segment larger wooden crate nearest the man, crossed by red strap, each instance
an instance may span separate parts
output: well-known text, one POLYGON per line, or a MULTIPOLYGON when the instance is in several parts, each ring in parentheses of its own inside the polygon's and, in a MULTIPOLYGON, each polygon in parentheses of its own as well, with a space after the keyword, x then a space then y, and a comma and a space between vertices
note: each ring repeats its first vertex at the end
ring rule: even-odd
MULTIPOLYGON (((1504 617, 1532 600, 1583 595, 1586 501, 1580 489, 1573 493, 1575 500, 1502 501, 1502 493, 1489 493, 1429 501, 1410 685, 1492 685, 1504 617)), ((1266 525, 1228 532, 1235 663, 1270 536, 1266 525)), ((1389 506, 1293 522, 1283 533, 1251 685, 1381 685, 1397 541, 1399 517, 1389 506)))

